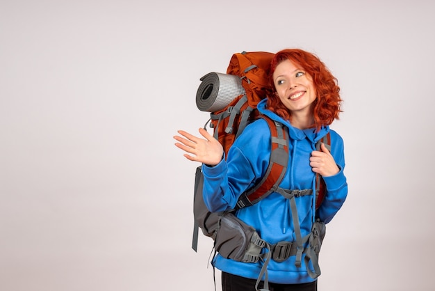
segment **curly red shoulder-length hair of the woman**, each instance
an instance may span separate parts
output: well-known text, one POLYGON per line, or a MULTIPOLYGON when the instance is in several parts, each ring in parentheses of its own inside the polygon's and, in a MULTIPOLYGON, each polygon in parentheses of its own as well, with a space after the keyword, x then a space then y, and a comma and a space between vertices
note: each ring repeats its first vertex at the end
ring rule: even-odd
POLYGON ((326 65, 317 56, 302 49, 283 49, 272 58, 269 74, 272 94, 268 96, 266 107, 276 112, 285 120, 291 120, 290 111, 282 104, 276 94, 272 77, 277 65, 286 60, 301 65, 313 78, 313 84, 317 92, 317 98, 314 101, 313 107, 313 127, 319 130, 320 127, 330 125, 335 119, 339 119, 338 114, 342 112, 340 109, 340 102, 342 100, 336 77, 329 72, 326 65))

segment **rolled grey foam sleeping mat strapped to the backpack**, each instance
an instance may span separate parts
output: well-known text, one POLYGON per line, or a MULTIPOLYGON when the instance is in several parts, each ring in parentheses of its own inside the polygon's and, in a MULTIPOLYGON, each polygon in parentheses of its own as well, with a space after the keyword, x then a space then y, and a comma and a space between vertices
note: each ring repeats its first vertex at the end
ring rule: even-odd
POLYGON ((201 111, 215 112, 227 107, 238 95, 245 94, 240 77, 234 74, 210 72, 200 79, 197 107, 201 111))

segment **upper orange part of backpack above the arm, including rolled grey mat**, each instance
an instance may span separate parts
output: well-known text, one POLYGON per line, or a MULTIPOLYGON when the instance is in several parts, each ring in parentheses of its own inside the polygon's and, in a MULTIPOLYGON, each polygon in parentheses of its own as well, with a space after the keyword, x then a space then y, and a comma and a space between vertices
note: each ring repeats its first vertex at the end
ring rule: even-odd
POLYGON ((271 91, 268 72, 273 56, 270 52, 236 53, 227 74, 211 72, 201 78, 197 107, 211 112, 210 126, 225 155, 246 125, 258 118, 256 106, 271 91), (224 87, 229 90, 222 93, 224 87), (224 101, 217 104, 219 100, 224 101))

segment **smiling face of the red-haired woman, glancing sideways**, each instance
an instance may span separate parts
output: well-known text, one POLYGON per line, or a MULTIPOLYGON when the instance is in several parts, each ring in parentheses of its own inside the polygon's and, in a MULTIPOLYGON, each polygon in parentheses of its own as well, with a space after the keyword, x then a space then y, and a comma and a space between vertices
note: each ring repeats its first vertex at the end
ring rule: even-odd
POLYGON ((290 113, 311 115, 316 92, 311 76, 290 60, 282 61, 273 73, 279 99, 290 113))

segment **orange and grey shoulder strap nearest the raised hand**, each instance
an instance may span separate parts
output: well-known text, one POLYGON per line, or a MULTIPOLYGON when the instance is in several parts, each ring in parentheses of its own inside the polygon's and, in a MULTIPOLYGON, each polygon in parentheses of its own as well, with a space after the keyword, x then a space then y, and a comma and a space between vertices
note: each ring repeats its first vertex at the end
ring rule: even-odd
POLYGON ((269 125, 271 133, 270 161, 268 169, 261 181, 255 187, 242 194, 236 205, 236 209, 254 205, 273 191, 276 191, 287 171, 288 165, 288 133, 284 125, 267 116, 260 116, 269 125))

